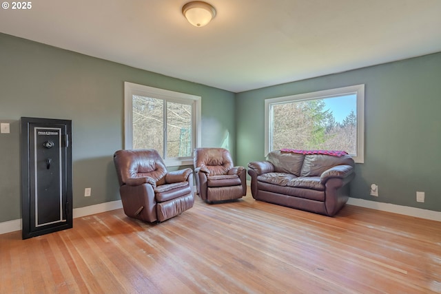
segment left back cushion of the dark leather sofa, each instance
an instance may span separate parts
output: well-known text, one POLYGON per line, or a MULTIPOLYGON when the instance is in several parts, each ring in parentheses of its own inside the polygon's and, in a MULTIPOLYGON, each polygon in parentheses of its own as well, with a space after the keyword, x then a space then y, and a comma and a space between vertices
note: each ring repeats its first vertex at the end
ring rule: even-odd
POLYGON ((305 155, 292 152, 274 150, 267 155, 267 161, 274 165, 277 173, 294 174, 300 176, 305 155))

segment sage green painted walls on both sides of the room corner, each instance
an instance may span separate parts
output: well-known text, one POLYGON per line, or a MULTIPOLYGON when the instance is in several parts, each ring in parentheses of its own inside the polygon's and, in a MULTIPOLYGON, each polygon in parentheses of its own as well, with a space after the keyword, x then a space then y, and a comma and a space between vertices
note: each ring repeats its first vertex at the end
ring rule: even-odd
POLYGON ((351 196, 441 211, 441 53, 234 94, 0 34, 0 122, 11 123, 0 134, 0 222, 21 217, 21 116, 72 120, 75 208, 119 200, 112 155, 123 147, 124 81, 202 96, 202 145, 229 148, 245 167, 264 158, 265 98, 364 83, 365 163, 351 196))

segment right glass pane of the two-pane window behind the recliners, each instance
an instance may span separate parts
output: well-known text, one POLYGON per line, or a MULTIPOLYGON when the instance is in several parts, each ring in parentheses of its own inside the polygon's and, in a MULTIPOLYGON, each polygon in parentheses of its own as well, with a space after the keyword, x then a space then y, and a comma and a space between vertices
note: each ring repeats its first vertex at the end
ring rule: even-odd
POLYGON ((167 158, 192 155, 192 105, 167 102, 167 158))

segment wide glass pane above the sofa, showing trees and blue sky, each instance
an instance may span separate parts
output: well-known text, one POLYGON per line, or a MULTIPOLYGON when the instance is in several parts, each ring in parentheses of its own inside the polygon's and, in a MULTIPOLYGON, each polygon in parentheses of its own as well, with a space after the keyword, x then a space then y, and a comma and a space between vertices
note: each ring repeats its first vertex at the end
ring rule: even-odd
POLYGON ((356 155, 356 94, 271 105, 271 150, 345 150, 356 155))

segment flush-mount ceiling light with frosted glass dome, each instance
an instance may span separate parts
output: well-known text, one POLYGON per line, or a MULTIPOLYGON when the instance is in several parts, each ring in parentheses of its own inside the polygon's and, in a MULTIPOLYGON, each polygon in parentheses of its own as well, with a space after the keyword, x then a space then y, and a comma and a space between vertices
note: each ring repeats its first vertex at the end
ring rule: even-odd
POLYGON ((182 14, 195 27, 203 27, 216 16, 216 9, 203 1, 192 1, 182 7, 182 14))

